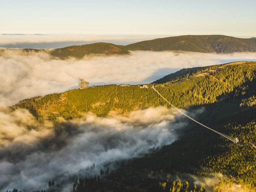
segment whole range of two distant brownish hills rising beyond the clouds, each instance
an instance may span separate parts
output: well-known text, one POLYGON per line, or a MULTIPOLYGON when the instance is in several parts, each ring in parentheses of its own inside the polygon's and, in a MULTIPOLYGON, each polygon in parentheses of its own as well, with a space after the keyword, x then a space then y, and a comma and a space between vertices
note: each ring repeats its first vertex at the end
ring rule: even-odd
POLYGON ((129 54, 129 50, 151 51, 190 51, 201 53, 256 52, 256 38, 236 38, 224 35, 185 35, 158 38, 129 44, 127 46, 112 43, 92 43, 69 46, 58 49, 25 49, 50 52, 54 57, 66 59, 83 58, 89 54, 129 54))

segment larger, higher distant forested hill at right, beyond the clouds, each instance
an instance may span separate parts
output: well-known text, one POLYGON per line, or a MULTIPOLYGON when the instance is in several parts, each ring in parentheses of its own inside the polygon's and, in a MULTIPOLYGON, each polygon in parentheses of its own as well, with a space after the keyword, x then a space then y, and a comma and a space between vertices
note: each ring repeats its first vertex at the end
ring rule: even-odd
POLYGON ((224 35, 186 35, 142 41, 126 47, 129 50, 183 50, 202 53, 256 52, 256 39, 224 35))

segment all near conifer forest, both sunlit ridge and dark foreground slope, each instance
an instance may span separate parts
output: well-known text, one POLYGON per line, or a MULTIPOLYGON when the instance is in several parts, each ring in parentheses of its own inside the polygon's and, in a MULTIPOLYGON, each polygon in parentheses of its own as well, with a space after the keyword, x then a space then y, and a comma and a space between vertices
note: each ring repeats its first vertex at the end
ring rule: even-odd
MULTIPOLYGON (((211 67, 181 70, 168 81, 208 69, 211 67)), ((239 138, 240 143, 234 144, 187 119, 186 131, 175 142, 138 158, 116 162, 118 169, 109 170, 106 165, 95 177, 77 175, 72 180, 73 192, 256 191, 256 148, 249 144, 256 143, 256 62, 231 65, 156 89, 174 106, 187 111, 203 108, 196 117, 199 122, 239 138), (199 181, 203 178, 214 181, 214 187, 203 184, 206 180, 199 181)), ((170 107, 152 88, 104 85, 29 98, 12 108, 26 108, 38 121, 58 124, 58 117, 79 118, 88 111, 107 116, 110 111, 128 113, 150 106, 170 107)), ((64 184, 55 183, 48 191, 60 191, 64 184)))

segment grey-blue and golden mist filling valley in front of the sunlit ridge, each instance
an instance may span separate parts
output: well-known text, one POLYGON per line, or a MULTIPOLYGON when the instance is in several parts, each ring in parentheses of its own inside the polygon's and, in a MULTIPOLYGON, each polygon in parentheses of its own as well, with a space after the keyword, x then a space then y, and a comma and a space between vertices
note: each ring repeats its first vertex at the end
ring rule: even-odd
MULTIPOLYGON (((165 107, 133 111, 126 116, 111 112, 105 118, 86 113, 57 127, 37 123, 31 128, 36 122, 25 110, 2 110, 0 114, 1 126, 5 127, 1 130, 5 136, 0 138, 5 141, 0 147, 0 191, 14 187, 46 189, 49 178, 59 183, 64 176, 93 163, 99 168, 172 143, 187 125, 176 111, 165 107)), ((99 170, 95 171, 98 174, 99 170)))

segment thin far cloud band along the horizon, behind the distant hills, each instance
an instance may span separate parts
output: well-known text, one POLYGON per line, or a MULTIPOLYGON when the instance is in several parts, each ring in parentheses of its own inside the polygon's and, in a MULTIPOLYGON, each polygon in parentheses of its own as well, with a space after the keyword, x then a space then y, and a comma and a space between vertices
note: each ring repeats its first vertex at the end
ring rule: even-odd
POLYGON ((0 47, 5 48, 60 48, 65 46, 108 42, 127 45, 166 36, 89 35, 89 34, 0 34, 0 47))

